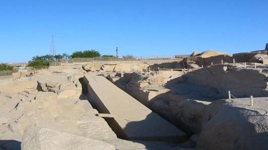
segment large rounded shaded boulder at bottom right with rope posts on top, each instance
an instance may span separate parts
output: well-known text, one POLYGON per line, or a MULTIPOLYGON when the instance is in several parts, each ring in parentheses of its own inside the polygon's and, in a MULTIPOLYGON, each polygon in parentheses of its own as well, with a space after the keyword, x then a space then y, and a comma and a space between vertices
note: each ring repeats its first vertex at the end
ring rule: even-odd
POLYGON ((265 98, 227 100, 227 104, 202 129, 197 148, 268 149, 268 117, 265 98), (229 104, 228 104, 229 103, 229 104))

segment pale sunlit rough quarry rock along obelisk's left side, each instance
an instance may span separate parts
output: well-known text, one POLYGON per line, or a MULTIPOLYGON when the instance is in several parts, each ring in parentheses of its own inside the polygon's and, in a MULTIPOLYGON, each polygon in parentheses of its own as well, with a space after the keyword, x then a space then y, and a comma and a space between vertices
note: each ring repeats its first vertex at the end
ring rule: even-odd
POLYGON ((0 81, 0 148, 21 149, 25 128, 36 123, 101 140, 116 149, 184 149, 178 143, 117 138, 83 94, 80 79, 85 72, 81 68, 62 66, 37 71, 32 77, 0 81))

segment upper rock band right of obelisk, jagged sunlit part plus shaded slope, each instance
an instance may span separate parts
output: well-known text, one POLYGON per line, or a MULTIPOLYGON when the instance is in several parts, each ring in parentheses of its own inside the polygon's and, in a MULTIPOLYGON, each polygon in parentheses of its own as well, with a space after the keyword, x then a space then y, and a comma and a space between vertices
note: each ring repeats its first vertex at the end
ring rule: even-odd
POLYGON ((268 96, 266 76, 265 68, 214 65, 186 74, 176 71, 125 73, 115 84, 141 101, 159 99, 168 91, 180 99, 212 101, 227 98, 228 91, 235 97, 268 96))

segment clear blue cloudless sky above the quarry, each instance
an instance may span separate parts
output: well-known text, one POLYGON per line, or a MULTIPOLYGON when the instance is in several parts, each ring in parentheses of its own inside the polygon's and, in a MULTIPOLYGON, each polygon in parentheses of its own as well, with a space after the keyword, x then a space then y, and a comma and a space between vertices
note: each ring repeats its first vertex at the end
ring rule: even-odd
POLYGON ((216 49, 263 50, 268 1, 1 1, 0 62, 96 49, 119 56, 172 56, 216 49))

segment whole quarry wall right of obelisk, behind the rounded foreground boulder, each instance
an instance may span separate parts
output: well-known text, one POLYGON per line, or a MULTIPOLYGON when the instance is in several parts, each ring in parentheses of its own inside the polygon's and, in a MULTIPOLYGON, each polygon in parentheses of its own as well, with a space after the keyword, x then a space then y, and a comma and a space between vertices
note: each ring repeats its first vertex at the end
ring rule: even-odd
POLYGON ((168 72, 127 73, 115 84, 191 134, 202 131, 221 110, 225 102, 217 99, 227 98, 228 90, 236 97, 267 96, 267 71, 262 67, 215 65, 186 74, 168 72))

